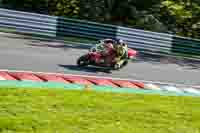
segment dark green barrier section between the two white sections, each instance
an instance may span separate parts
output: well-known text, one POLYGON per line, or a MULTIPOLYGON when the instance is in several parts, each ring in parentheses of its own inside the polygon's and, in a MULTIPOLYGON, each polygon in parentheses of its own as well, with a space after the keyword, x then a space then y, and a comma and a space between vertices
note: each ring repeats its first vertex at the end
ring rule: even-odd
POLYGON ((72 35, 89 39, 116 38, 117 26, 59 17, 57 36, 72 35))

